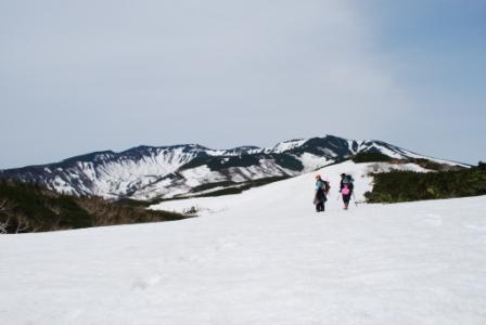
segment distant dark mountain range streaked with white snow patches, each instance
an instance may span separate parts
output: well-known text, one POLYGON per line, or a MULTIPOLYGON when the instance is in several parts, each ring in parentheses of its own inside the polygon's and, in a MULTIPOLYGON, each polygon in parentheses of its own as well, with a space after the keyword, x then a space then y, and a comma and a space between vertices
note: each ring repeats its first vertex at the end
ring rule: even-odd
POLYGON ((74 195, 148 200, 294 177, 369 152, 398 159, 431 159, 382 141, 327 135, 285 141, 270 148, 210 150, 197 144, 138 146, 120 153, 97 152, 56 164, 3 170, 0 178, 35 182, 74 195))

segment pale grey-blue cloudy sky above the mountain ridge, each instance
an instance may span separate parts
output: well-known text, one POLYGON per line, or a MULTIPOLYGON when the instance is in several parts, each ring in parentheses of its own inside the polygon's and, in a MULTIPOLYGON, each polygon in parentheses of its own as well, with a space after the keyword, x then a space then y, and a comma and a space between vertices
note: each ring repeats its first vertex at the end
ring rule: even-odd
POLYGON ((486 159, 483 0, 0 0, 0 169, 333 134, 486 159))

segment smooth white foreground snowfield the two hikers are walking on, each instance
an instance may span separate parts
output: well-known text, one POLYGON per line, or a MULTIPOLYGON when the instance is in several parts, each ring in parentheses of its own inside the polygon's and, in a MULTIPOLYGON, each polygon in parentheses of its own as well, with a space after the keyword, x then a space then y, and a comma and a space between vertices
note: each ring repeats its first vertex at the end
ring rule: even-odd
POLYGON ((369 167, 325 169, 324 213, 311 173, 200 218, 2 235, 2 324, 486 324, 486 196, 342 210, 333 172, 360 197, 369 167))

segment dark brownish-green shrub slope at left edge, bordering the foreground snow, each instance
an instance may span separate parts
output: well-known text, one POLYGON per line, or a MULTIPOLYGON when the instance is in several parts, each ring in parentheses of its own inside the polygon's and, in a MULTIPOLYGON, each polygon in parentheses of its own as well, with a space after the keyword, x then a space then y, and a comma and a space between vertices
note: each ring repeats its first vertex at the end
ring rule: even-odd
POLYGON ((38 185, 0 181, 0 233, 47 232, 184 218, 179 213, 146 210, 138 202, 107 203, 100 197, 74 197, 38 185))

